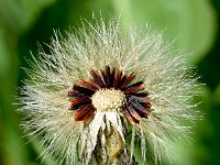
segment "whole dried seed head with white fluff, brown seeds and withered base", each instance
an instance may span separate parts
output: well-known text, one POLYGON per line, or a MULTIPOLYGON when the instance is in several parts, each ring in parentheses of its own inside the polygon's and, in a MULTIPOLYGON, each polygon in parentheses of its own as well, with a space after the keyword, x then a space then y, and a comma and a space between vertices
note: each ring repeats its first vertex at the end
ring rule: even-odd
POLYGON ((20 111, 59 163, 135 164, 140 140, 142 164, 148 150, 157 164, 166 141, 186 135, 196 78, 161 34, 84 21, 67 38, 56 33, 50 48, 31 62, 20 111))

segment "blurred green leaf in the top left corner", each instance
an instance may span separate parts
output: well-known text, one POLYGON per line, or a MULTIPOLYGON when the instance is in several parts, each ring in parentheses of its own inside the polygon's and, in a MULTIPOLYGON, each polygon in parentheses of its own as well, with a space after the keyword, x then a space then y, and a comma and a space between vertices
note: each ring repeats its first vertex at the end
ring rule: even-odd
POLYGON ((26 30, 41 11, 56 0, 1 0, 0 19, 14 32, 26 30))

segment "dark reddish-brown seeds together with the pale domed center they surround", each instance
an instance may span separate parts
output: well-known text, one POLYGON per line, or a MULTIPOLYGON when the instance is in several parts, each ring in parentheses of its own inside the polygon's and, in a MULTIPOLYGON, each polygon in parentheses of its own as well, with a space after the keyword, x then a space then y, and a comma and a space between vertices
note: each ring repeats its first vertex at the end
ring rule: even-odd
POLYGON ((151 103, 146 97, 143 81, 132 84, 136 74, 123 75, 122 70, 106 66, 106 72, 91 70, 92 78, 77 80, 81 86, 74 86, 70 97, 70 110, 76 110, 74 118, 77 121, 88 121, 96 111, 122 112, 134 124, 150 114, 151 103), (98 74, 97 74, 98 73, 98 74))

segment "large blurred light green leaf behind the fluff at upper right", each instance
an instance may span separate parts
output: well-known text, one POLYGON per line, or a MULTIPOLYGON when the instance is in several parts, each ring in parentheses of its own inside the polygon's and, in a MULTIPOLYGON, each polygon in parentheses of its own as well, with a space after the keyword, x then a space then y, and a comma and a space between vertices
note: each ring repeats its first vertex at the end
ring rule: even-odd
POLYGON ((125 29, 134 23, 143 26, 147 23, 153 30, 165 30, 166 40, 176 38, 177 47, 193 53, 190 64, 198 63, 212 45, 216 18, 208 0, 95 0, 91 10, 106 9, 97 9, 97 3, 99 7, 112 4, 125 29))

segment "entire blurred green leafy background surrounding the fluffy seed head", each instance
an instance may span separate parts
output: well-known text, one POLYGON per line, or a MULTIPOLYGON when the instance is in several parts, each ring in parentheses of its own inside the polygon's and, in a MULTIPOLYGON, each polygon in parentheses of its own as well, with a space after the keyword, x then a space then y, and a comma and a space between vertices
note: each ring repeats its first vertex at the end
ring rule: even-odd
MULTIPOLYGON (((37 139, 31 143, 20 129, 14 95, 25 78, 21 67, 29 67, 30 51, 37 42, 50 43, 53 30, 80 26, 80 19, 92 12, 108 20, 120 16, 124 31, 130 25, 163 31, 164 40, 176 40, 184 47, 188 63, 198 67, 204 120, 194 128, 193 141, 176 143, 170 152, 175 165, 220 164, 220 1, 219 0, 0 0, 0 164, 35 165, 42 150, 37 139)), ((47 47, 43 45, 45 51, 47 47)), ((55 164, 46 156, 43 165, 55 164)))

